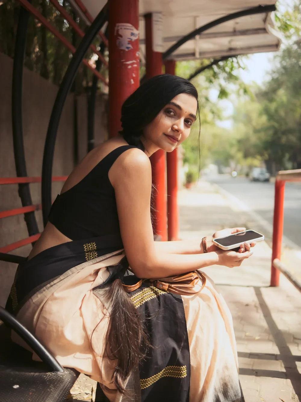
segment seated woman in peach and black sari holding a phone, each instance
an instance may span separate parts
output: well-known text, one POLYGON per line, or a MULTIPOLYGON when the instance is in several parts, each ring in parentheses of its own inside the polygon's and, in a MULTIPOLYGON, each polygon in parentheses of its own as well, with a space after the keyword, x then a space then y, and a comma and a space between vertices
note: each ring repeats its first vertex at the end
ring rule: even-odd
POLYGON ((63 366, 99 381, 110 401, 244 400, 230 312, 208 277, 186 296, 147 281, 123 287, 239 266, 252 254, 249 244, 217 250, 212 236, 154 242, 149 156, 188 137, 197 99, 189 81, 161 75, 124 102, 122 131, 70 174, 12 287, 18 319, 63 366))

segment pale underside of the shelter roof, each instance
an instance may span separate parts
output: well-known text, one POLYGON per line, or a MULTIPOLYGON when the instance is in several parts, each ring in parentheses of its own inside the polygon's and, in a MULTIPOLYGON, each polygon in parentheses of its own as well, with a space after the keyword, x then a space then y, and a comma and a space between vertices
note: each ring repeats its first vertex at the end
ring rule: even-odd
MULTIPOLYGON (((106 0, 85 0, 85 6, 95 18, 106 0)), ((273 5, 275 0, 265 0, 260 5, 273 5)), ((157 28, 156 35, 162 35, 161 51, 164 53, 181 37, 194 29, 218 18, 258 6, 256 0, 140 0, 139 35, 142 63, 145 54, 144 14, 161 13, 162 31, 157 28), (160 32, 161 31, 161 32, 160 32)), ((160 14, 157 14, 160 19, 160 14)), ((192 60, 217 58, 227 55, 276 51, 281 44, 274 29, 273 13, 264 12, 242 16, 206 30, 181 45, 169 58, 192 60)))

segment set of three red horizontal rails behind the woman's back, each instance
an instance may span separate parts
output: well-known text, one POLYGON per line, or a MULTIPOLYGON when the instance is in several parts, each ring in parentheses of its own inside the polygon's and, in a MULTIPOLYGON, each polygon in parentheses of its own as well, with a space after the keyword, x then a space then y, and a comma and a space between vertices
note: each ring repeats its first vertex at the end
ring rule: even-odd
MULTIPOLYGON (((54 176, 52 178, 52 181, 65 181, 65 180, 67 180, 67 177, 68 176, 54 176)), ((22 183, 41 183, 41 177, 1 177, 0 178, 0 185, 1 184, 22 184, 22 183)), ((21 208, 8 209, 6 211, 0 211, 0 219, 9 217, 9 216, 19 215, 20 213, 38 211, 41 208, 42 208, 42 205, 38 204, 38 205, 27 205, 26 207, 21 207, 21 208)), ((39 237, 40 237, 40 234, 37 233, 37 234, 35 234, 33 236, 29 236, 25 239, 18 240, 17 242, 7 244, 6 246, 0 247, 0 252, 7 253, 12 250, 16 250, 16 248, 19 248, 19 247, 25 246, 26 244, 30 244, 30 243, 37 241, 39 237)))

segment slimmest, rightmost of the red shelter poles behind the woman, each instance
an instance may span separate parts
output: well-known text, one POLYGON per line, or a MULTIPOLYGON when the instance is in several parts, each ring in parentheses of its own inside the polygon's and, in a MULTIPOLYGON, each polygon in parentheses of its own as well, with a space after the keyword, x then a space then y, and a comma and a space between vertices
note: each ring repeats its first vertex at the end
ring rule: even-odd
MULTIPOLYGON (((175 75, 175 60, 166 60, 165 74, 175 75)), ((179 239, 178 150, 167 152, 167 230, 168 240, 179 239)))

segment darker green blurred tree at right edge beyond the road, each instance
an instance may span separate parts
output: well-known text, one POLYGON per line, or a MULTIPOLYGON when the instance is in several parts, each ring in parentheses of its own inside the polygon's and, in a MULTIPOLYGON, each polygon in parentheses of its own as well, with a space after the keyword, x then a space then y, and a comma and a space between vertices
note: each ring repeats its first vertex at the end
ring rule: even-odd
POLYGON ((276 61, 272 78, 258 93, 270 133, 264 145, 271 162, 301 168, 301 41, 287 46, 276 61))

